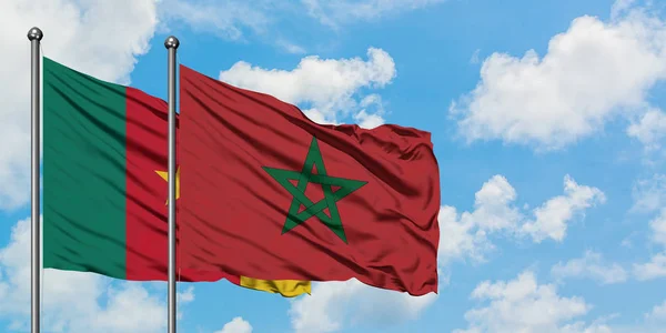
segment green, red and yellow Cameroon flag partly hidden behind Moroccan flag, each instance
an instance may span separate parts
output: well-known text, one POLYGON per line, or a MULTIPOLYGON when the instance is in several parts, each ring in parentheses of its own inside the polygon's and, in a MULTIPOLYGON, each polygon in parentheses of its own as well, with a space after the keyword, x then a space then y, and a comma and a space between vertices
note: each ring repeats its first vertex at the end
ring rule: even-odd
MULTIPOLYGON (((167 119, 161 99, 43 58, 44 268, 167 280, 167 119)), ((176 272, 180 281, 310 293, 307 281, 176 272)))

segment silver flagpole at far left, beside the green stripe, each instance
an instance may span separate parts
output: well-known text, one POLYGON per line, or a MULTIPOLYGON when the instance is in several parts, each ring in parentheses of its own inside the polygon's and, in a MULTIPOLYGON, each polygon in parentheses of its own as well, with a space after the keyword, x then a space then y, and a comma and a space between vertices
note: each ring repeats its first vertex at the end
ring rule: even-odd
POLYGON ((28 31, 28 40, 30 40, 31 48, 31 67, 30 67, 30 90, 32 97, 30 99, 30 120, 32 127, 30 130, 30 141, 32 144, 32 154, 30 155, 30 191, 31 194, 31 270, 30 270, 30 320, 31 320, 31 332, 39 333, 40 331, 40 270, 41 270, 41 246, 40 246, 40 224, 39 224, 39 160, 40 160, 40 52, 39 44, 43 33, 37 27, 28 31))

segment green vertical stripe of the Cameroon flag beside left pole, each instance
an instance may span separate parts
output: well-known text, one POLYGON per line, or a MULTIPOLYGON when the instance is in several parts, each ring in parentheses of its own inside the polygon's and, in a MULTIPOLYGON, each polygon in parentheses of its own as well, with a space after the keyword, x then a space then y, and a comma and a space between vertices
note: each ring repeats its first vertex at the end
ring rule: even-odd
POLYGON ((47 58, 43 261, 125 278, 125 88, 47 58))

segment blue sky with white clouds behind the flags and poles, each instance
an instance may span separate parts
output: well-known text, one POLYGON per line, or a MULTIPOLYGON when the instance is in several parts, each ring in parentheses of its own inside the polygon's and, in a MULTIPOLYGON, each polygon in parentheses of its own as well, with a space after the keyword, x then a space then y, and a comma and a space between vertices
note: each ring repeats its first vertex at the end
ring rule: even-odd
MULTIPOLYGON (((174 34, 181 63, 315 121, 433 133, 438 295, 181 285, 181 332, 666 332, 660 1, 23 2, 0 4, 1 331, 29 319, 26 32, 39 26, 44 56, 157 97, 174 34)), ((165 331, 161 283, 47 271, 43 302, 47 332, 165 331)))

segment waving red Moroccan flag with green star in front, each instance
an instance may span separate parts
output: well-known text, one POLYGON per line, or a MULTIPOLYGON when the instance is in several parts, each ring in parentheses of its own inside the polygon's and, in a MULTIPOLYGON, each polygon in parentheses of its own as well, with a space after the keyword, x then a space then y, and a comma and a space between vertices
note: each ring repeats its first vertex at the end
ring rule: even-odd
POLYGON ((180 99, 183 268, 437 292, 430 133, 316 124, 184 65, 180 99))

